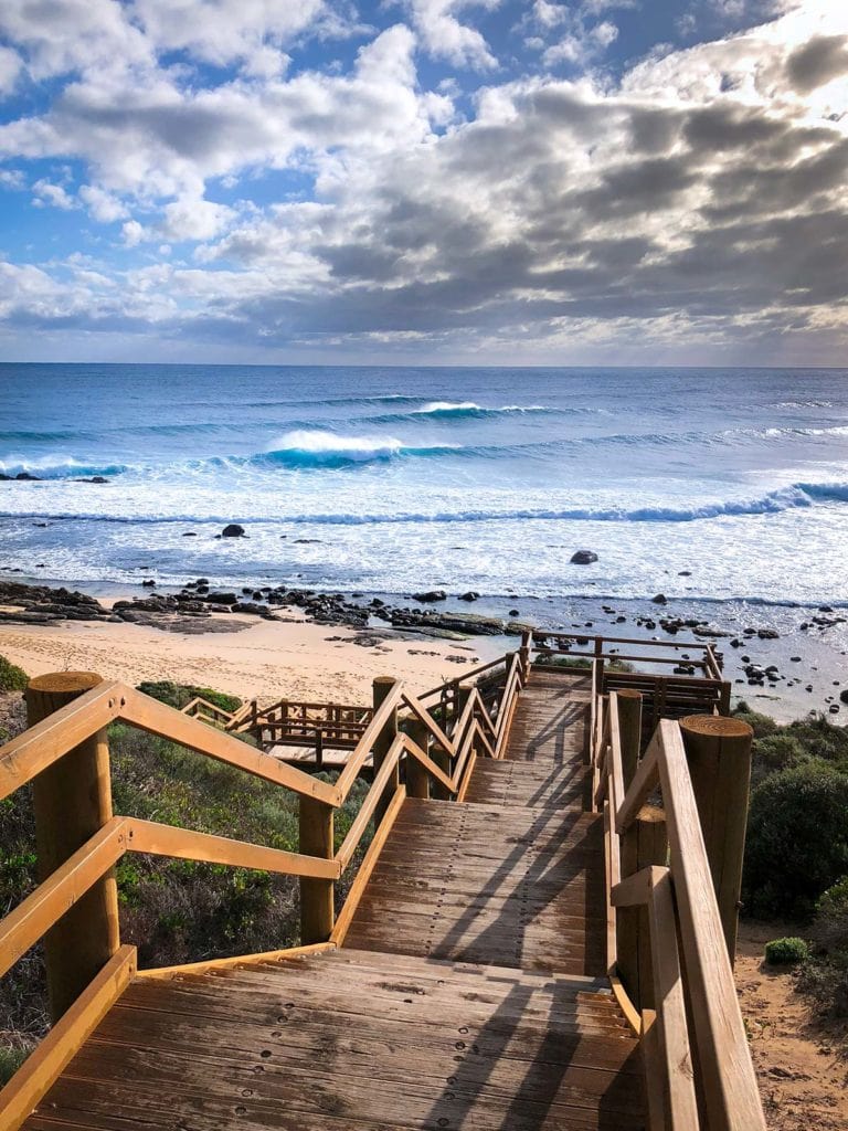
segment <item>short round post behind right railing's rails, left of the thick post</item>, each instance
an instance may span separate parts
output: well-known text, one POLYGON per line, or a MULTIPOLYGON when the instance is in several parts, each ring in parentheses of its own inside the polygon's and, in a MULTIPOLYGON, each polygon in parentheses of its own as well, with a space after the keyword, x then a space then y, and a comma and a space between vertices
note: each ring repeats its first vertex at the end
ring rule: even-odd
MULTIPOLYGON (((621 836, 622 879, 652 864, 665 865, 668 837, 661 809, 644 805, 621 836)), ((638 1009, 654 1008, 650 923, 647 907, 620 907, 617 916, 618 976, 638 1009)))

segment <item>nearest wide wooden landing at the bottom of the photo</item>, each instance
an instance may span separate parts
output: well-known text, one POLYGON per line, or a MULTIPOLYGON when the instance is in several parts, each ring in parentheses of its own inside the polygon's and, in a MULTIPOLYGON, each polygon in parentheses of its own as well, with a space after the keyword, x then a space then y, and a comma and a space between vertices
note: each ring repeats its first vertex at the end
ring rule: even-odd
POLYGON ((138 979, 25 1128, 644 1126, 638 1045, 609 994, 491 966, 380 962, 343 950, 138 979), (605 1016, 614 1024, 594 1020, 605 1016))

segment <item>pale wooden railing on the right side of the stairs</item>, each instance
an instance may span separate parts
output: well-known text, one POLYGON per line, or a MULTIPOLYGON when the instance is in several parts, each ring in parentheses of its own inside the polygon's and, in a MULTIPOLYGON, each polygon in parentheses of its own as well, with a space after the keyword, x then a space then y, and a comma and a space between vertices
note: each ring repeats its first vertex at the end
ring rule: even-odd
MULTIPOLYGON (((650 1125, 764 1131, 732 965, 744 811, 742 841, 730 822, 717 831, 711 819, 704 832, 690 762, 701 794, 715 795, 704 789, 707 763, 698 749, 687 757, 681 725, 669 719, 640 758, 639 708, 616 692, 597 697, 591 763, 605 823, 608 972, 641 1033, 650 1125), (661 810, 646 806, 657 791, 661 810)), ((724 743, 726 762, 746 742, 750 774, 744 724, 700 716, 685 726, 702 745, 704 735, 708 744, 724 743)), ((742 761, 724 772, 742 776, 742 761)))

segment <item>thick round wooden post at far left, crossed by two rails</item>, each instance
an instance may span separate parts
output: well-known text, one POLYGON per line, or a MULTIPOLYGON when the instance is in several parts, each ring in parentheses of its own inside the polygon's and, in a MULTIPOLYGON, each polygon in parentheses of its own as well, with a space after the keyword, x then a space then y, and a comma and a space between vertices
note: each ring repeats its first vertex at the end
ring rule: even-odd
MULTIPOLYGON (((37 675, 26 689, 27 722, 40 723, 102 683, 93 672, 37 675)), ((46 880, 112 818, 105 731, 80 743, 33 782, 38 879, 46 880)), ((118 886, 110 871, 44 939, 50 1012, 66 1012, 120 946, 118 886)))

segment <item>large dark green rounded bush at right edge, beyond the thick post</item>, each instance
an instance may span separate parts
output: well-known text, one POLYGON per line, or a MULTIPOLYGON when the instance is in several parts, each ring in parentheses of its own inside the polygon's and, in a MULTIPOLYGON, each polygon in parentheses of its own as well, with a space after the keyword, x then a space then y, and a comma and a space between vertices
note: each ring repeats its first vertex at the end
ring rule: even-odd
POLYGON ((743 900, 762 917, 808 920, 848 872, 848 776, 812 759, 762 782, 751 797, 743 900))

